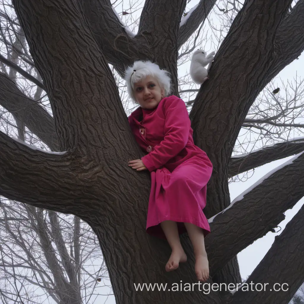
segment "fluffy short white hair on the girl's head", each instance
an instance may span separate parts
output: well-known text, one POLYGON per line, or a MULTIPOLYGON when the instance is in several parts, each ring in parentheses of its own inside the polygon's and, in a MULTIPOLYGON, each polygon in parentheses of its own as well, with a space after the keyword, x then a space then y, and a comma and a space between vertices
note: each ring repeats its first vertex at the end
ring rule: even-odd
POLYGON ((124 77, 129 97, 133 100, 133 102, 138 103, 134 95, 134 84, 149 75, 157 79, 161 88, 164 89, 164 95, 169 95, 169 92, 171 91, 171 78, 169 77, 170 73, 166 70, 161 70, 157 64, 152 63, 149 60, 137 60, 134 62, 133 66, 127 67, 124 77))

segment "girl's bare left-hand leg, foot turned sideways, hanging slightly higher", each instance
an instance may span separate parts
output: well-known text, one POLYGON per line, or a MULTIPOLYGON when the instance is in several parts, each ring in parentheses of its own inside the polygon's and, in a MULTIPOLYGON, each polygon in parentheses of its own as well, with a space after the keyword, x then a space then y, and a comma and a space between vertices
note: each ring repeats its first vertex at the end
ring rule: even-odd
POLYGON ((187 256, 181 242, 179 240, 179 234, 177 229, 177 223, 174 221, 161 222, 161 228, 168 240, 168 243, 172 249, 171 256, 166 264, 166 271, 172 271, 178 268, 179 263, 187 261, 187 256))

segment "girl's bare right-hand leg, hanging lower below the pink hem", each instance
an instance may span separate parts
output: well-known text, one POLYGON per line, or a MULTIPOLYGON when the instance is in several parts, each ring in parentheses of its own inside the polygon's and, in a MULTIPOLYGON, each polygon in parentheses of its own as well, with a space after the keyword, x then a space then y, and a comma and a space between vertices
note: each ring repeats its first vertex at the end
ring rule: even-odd
POLYGON ((206 281, 209 278, 209 263, 205 250, 203 230, 191 223, 184 224, 193 245, 197 279, 199 281, 206 281))

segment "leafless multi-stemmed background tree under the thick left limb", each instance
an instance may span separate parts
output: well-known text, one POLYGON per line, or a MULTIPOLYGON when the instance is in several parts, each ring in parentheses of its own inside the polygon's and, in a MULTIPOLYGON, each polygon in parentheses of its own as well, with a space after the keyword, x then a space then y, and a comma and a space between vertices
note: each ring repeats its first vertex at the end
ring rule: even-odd
POLYGON ((76 216, 1 203, 2 302, 42 303, 49 298, 62 303, 68 296, 75 304, 93 303, 94 293, 103 289, 97 279, 107 278, 107 270, 96 263, 101 253, 88 225, 76 216))

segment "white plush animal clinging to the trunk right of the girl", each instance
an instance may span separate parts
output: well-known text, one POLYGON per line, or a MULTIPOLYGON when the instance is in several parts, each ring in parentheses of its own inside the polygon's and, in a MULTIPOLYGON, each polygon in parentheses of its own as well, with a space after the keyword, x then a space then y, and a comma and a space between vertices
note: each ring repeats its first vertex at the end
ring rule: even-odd
POLYGON ((190 77, 194 83, 201 85, 209 78, 208 72, 214 59, 214 54, 215 52, 213 51, 207 55, 204 50, 196 50, 193 52, 190 64, 190 77), (209 65, 205 68, 207 64, 209 65))

